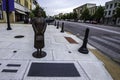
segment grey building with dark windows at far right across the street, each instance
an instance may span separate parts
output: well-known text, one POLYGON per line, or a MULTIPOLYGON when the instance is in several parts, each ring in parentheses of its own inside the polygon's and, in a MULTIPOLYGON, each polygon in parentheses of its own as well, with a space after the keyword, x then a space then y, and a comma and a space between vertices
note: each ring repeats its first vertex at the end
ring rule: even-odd
POLYGON ((105 24, 120 25, 120 19, 115 20, 115 18, 113 17, 116 14, 116 8, 118 7, 119 3, 120 0, 112 0, 105 3, 105 14, 104 14, 105 24))

